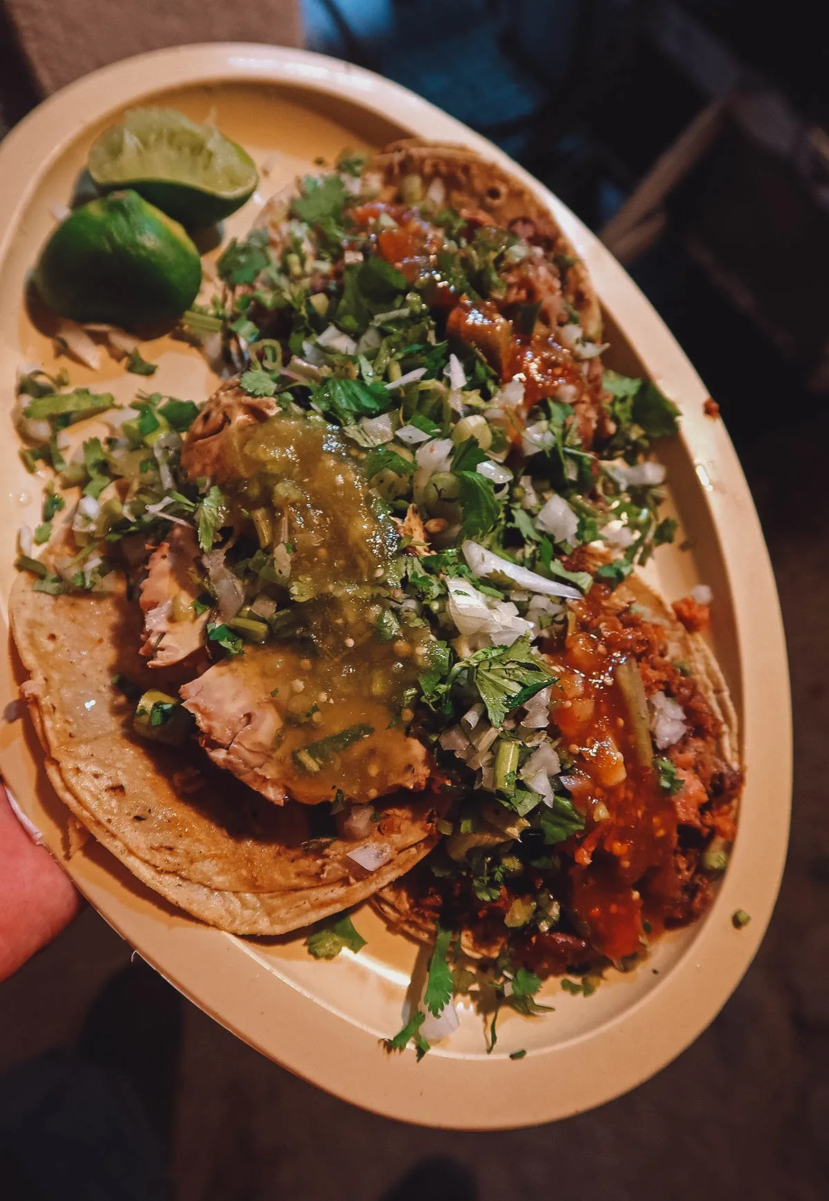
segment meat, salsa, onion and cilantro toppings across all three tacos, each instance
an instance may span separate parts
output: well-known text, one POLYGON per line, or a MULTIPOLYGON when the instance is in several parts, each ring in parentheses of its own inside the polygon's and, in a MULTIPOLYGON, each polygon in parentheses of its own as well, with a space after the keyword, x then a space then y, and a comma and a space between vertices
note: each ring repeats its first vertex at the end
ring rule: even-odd
POLYGON ((650 449, 677 407, 603 366, 572 246, 468 151, 344 156, 217 268, 185 317, 233 376, 206 404, 139 394, 71 452, 112 398, 22 383, 28 461, 55 476, 13 604, 26 665, 48 675, 26 633, 43 597, 58 617, 118 594, 133 749, 186 747, 252 812, 313 807, 301 846, 337 879, 370 844, 360 896, 439 960, 489 963, 523 1011, 529 975, 629 967, 705 909, 740 784, 715 665, 635 573, 674 536, 650 449))

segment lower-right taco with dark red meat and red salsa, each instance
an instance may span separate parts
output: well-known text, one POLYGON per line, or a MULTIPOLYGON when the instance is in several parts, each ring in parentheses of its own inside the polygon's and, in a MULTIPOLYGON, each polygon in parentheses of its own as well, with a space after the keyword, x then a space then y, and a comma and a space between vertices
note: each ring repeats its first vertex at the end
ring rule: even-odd
MULTIPOLYGON (((543 647, 554 683, 542 715, 555 760, 546 751, 543 770, 570 801, 553 793, 540 821, 509 825, 461 803, 440 849, 372 898, 395 930, 433 943, 450 928, 470 958, 541 976, 630 967, 704 913, 743 782, 737 715, 702 635, 636 576, 571 609, 543 647)), ((468 725, 446 740, 462 763, 468 725)), ((530 755, 518 783, 537 766, 530 755)))

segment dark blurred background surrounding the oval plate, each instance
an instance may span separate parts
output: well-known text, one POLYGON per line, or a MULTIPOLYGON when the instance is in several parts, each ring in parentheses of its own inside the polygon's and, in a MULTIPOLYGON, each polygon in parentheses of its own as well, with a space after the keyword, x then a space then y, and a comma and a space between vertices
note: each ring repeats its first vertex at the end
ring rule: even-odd
MULTIPOLYGON (((43 92, 139 49, 205 38, 306 44, 426 96, 571 205, 720 404, 777 575, 797 731, 789 865, 761 954, 711 1028, 630 1097, 505 1135, 420 1131, 359 1113, 131 964, 130 949, 85 913, 0 990, 0 1121, 4 1098, 19 1095, 17 1065, 50 1052, 41 1062, 55 1080, 61 1063, 80 1062, 91 1072, 84 1087, 95 1091, 98 1071, 126 1082, 149 1118, 149 1160, 176 1201, 829 1195, 821 16, 818 0, 304 0, 301 13, 289 0, 179 0, 173 10, 145 0, 140 14, 125 0, 5 0, 4 14, 0 0, 0 132, 43 92)), ((68 1103, 54 1089, 61 1111, 68 1103)), ((0 1136, 0 1196, 162 1195, 124 1181, 84 1191, 60 1169, 65 1191, 53 1194, 37 1166, 48 1139, 24 1107, 16 1112, 14 1140, 0 1136)), ((116 1146, 120 1135, 107 1137, 116 1146)))

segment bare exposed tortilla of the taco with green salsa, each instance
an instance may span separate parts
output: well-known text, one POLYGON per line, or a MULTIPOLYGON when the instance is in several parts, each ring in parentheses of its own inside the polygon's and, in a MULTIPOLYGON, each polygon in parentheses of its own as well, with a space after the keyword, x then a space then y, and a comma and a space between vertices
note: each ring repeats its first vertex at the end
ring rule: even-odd
MULTIPOLYGON (((72 814, 144 884, 236 934, 283 934, 364 901, 438 839, 435 797, 389 797, 371 837, 316 838, 307 806, 277 807, 194 743, 132 733, 133 705, 114 677, 164 688, 138 653, 142 614, 124 580, 109 591, 48 596, 19 575, 12 634, 31 679, 20 692, 46 751, 47 775, 72 814), (390 855, 374 872, 349 852, 390 855)), ((173 687, 175 691, 175 687, 173 687)))

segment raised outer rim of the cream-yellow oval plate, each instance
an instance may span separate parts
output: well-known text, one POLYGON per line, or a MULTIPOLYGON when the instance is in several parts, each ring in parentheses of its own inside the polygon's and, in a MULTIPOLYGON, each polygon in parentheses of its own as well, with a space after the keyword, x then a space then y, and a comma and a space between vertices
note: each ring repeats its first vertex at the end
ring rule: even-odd
MULTIPOLYGON (((713 1021, 751 963, 780 886, 792 784, 788 671, 774 576, 747 484, 725 426, 703 414, 702 402, 708 394, 699 377, 649 301, 595 235, 492 143, 400 84, 338 59, 259 43, 204 43, 140 54, 61 89, 0 144, 2 178, 11 180, 0 191, 0 262, 40 178, 86 126, 160 91, 221 83, 290 85, 326 92, 412 129, 415 136, 463 142, 505 166, 551 208, 583 255, 602 306, 655 382, 669 380, 667 390, 683 411, 681 436, 689 449, 693 447, 697 473, 702 471, 709 480, 708 489, 702 483, 704 501, 735 610, 744 680, 745 761, 764 764, 764 770, 752 766, 752 771, 764 783, 774 781, 770 790, 777 805, 769 806, 764 814, 771 831, 767 827, 762 838, 757 821, 746 821, 741 814, 732 865, 715 904, 663 980, 600 1029, 529 1052, 519 1060, 521 1068, 503 1058, 459 1062, 432 1054, 416 1064, 412 1052, 389 1057, 368 1032, 320 1005, 308 1004, 310 997, 296 985, 264 970, 254 957, 240 955, 233 936, 191 919, 168 918, 161 908, 144 913, 136 907, 132 890, 120 885, 119 873, 106 862, 108 856, 76 856, 62 866, 104 920, 199 1008, 264 1054, 344 1100, 386 1117, 458 1130, 535 1125, 582 1112, 629 1092, 661 1070, 713 1021), (636 334, 627 331, 631 327, 636 334), (728 496, 716 488, 716 480, 726 477, 728 496), (728 507, 739 508, 739 522, 726 512, 728 507), (768 746, 769 716, 763 717, 761 710, 762 691, 769 682, 775 688, 774 757, 768 746), (786 799, 786 805, 779 803, 780 797, 786 799), (770 852, 769 832, 774 833, 770 852), (751 879, 758 843, 764 848, 762 882, 751 879), (751 925, 739 932, 723 932, 722 922, 728 920, 731 925, 729 914, 745 907, 746 895, 752 898, 751 925), (148 939, 150 948, 145 945, 148 939), (217 970, 222 963, 232 964, 233 970, 217 970), (241 1005, 240 985, 245 996, 241 1005), (669 1029, 667 1023, 662 1028, 654 1023, 656 1004, 672 1010, 669 1029), (276 1008, 278 1022, 274 1018, 276 1008), (631 1056, 633 1045, 642 1052, 636 1058, 631 1056), (318 1053, 320 1047, 325 1053, 318 1053), (382 1063, 372 1063, 371 1070, 370 1054, 382 1056, 382 1063), (555 1056, 554 1064, 549 1056, 555 1056), (549 1091, 545 1082, 553 1072, 555 1088, 549 1091), (561 1087, 563 1078, 566 1088, 561 1087), (519 1087, 498 1088, 501 1083, 519 1087)), ((703 476, 699 478, 703 480, 703 476)), ((17 800, 24 809, 28 807, 25 795, 17 800)))

